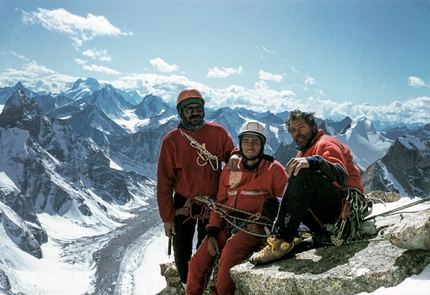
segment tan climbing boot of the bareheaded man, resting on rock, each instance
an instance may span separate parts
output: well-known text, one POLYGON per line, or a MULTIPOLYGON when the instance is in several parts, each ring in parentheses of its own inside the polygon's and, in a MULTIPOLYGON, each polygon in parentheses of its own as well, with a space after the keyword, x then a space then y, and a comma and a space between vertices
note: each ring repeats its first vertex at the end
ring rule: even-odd
POLYGON ((293 250, 294 243, 295 241, 287 243, 275 237, 267 238, 267 246, 261 251, 252 254, 251 258, 249 258, 249 262, 254 265, 259 265, 278 260, 293 250))

